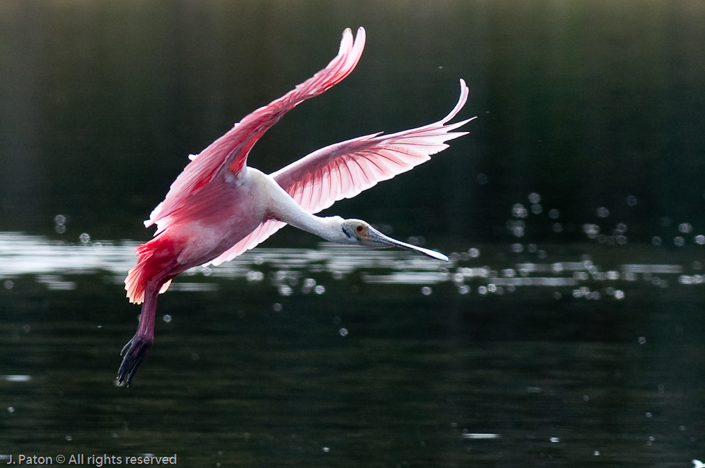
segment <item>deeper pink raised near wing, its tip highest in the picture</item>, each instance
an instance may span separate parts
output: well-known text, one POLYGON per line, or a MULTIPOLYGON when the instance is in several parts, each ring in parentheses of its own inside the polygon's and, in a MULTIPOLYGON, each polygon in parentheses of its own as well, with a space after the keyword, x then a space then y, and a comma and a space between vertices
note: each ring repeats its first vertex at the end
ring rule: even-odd
POLYGON ((188 211, 188 199, 202 187, 211 183, 223 171, 238 173, 247 164, 247 154, 252 146, 283 115, 302 101, 315 97, 341 82, 355 69, 364 47, 364 28, 357 30, 353 43, 353 32, 343 32, 341 48, 336 58, 323 70, 295 87, 283 97, 260 107, 250 115, 235 123, 228 133, 214 141, 197 156, 189 156, 192 161, 171 184, 164 202, 152 211, 145 226, 157 223, 157 235, 171 223, 178 222, 188 211))

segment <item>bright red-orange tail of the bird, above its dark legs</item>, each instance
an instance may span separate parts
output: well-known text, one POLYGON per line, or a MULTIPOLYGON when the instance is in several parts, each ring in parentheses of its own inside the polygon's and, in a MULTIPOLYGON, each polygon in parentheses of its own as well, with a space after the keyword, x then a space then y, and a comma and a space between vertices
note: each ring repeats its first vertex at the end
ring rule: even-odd
MULTIPOLYGON (((176 261, 178 249, 165 234, 162 233, 135 249, 137 265, 125 278, 125 290, 128 292, 130 302, 142 304, 145 300, 147 281, 159 281, 159 276, 168 272, 176 261)), ((161 285, 159 293, 164 293, 170 284, 171 280, 168 280, 161 285)))

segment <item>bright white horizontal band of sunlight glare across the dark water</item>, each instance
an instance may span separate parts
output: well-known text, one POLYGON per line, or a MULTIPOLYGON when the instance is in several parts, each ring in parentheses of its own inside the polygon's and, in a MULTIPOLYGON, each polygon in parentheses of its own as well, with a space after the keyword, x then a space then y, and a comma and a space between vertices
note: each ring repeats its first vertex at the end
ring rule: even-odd
MULTIPOLYGON (((128 240, 119 243, 82 241, 79 245, 68 245, 42 236, 0 233, 0 279, 5 280, 6 288, 11 288, 12 278, 35 275, 37 283, 46 285, 49 290, 74 290, 78 287, 77 283, 66 280, 64 276, 109 272, 111 281, 121 283, 126 272, 135 264, 134 250, 137 245, 137 242, 128 240)), ((516 246, 516 243, 509 245, 508 252, 523 251, 516 246)), ((539 252, 540 257, 545 259, 546 251, 539 252)), ((466 284, 472 283, 476 285, 475 291, 482 295, 513 293, 516 288, 536 287, 575 288, 572 293, 574 297, 590 297, 585 292, 589 291, 589 287, 597 287, 606 292, 603 295, 623 299, 624 292, 620 288, 637 280, 645 280, 659 288, 667 288, 672 282, 681 285, 705 282, 705 276, 694 271, 699 266, 697 261, 689 265, 623 263, 608 265, 605 269, 594 264, 589 254, 581 254, 582 261, 552 259, 550 263, 511 263, 503 254, 496 257, 502 259, 503 264, 499 264, 496 258, 484 259, 477 247, 451 253, 448 263, 400 250, 368 250, 330 243, 321 243, 318 249, 258 247, 217 267, 190 269, 174 281, 171 290, 214 291, 219 288, 213 282, 214 278, 245 278, 248 283, 266 280, 278 288, 281 295, 292 294, 294 290, 291 287, 300 281, 303 292, 314 290, 321 294, 324 292, 323 286, 316 285, 310 278, 302 278, 311 273, 329 273, 333 280, 340 280, 346 275, 360 272, 364 283, 450 283, 462 295, 472 292, 470 285, 466 284), (479 266, 484 261, 492 266, 479 266), (265 275, 262 270, 271 272, 265 275), (687 270, 693 274, 683 274, 687 270)))

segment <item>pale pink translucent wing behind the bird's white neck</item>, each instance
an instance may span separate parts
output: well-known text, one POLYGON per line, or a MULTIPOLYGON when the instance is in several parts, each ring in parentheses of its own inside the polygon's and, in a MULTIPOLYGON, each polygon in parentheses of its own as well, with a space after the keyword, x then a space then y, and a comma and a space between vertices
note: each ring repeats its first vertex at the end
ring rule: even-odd
MULTIPOLYGON (((309 213, 317 213, 343 198, 352 198, 381 180, 391 179, 397 174, 431 159, 448 147, 446 141, 467 132, 451 132, 472 121, 446 125, 460 112, 467 101, 467 86, 460 80, 460 99, 441 121, 412 128, 391 135, 375 133, 331 144, 272 173, 276 182, 309 213)), ((219 265, 250 250, 285 223, 266 221, 250 235, 223 252, 211 263, 219 265)))

